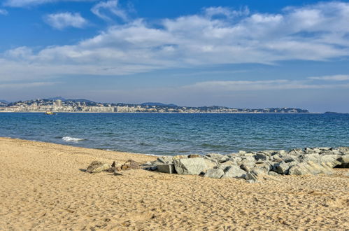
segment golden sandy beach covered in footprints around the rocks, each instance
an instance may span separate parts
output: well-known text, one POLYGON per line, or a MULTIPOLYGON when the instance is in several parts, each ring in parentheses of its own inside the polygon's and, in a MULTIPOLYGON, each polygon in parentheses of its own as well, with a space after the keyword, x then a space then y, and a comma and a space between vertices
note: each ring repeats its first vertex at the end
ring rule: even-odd
POLYGON ((349 230, 349 169, 259 183, 84 172, 129 159, 155 157, 0 138, 0 230, 349 230))

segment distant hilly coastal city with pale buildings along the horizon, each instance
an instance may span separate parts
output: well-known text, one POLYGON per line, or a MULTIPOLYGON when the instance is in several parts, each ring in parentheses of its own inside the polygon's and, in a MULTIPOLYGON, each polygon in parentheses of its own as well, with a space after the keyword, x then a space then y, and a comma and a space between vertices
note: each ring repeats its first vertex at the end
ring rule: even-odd
POLYGON ((33 99, 19 102, 0 101, 0 112, 82 112, 82 113, 309 113, 306 109, 270 108, 235 109, 226 106, 177 106, 175 104, 97 103, 87 99, 33 99))

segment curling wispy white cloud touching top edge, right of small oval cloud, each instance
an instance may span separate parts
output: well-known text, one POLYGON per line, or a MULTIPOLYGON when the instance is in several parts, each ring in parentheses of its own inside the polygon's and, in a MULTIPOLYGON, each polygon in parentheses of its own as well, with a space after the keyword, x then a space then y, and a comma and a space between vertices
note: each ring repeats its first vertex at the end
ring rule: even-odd
POLYGON ((102 18, 104 20, 111 20, 111 18, 109 18, 105 12, 110 11, 111 13, 113 13, 113 15, 116 15, 122 20, 127 21, 127 13, 117 6, 117 0, 101 1, 93 6, 91 11, 99 18, 102 18))

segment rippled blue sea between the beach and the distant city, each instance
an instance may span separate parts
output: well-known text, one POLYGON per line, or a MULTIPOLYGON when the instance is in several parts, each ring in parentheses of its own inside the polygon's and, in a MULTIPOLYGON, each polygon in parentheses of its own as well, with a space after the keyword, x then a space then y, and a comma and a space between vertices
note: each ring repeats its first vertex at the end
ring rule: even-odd
POLYGON ((349 146, 349 114, 0 113, 0 137, 156 155, 349 146))

